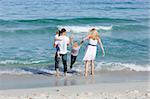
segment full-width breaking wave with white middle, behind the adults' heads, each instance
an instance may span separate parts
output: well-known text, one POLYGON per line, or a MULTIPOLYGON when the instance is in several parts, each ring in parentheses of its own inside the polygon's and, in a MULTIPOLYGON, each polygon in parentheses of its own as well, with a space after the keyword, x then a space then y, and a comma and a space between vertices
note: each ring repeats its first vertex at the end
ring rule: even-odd
POLYGON ((0 28, 0 34, 4 33, 49 33, 54 32, 57 29, 65 28, 68 32, 81 33, 89 32, 90 29, 95 28, 97 30, 105 31, 140 31, 147 30, 149 26, 145 25, 58 25, 58 26, 37 26, 37 27, 26 27, 26 28, 0 28))

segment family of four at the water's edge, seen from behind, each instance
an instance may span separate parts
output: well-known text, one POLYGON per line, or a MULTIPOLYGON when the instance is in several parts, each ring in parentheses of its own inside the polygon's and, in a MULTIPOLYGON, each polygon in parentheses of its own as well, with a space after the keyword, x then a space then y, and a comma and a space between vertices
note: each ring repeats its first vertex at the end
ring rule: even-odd
POLYGON ((54 39, 54 47, 56 48, 55 54, 55 70, 56 75, 59 76, 59 62, 62 58, 64 75, 67 74, 67 46, 71 45, 71 63, 70 69, 72 69, 73 64, 76 61, 81 45, 88 40, 87 49, 85 52, 85 56, 83 58, 85 62, 85 76, 88 76, 89 65, 91 65, 91 75, 94 75, 94 60, 97 53, 97 45, 99 44, 103 56, 105 55, 105 51, 103 48, 103 44, 101 42, 100 36, 95 28, 90 30, 90 34, 88 34, 79 44, 77 41, 73 41, 72 37, 66 36, 66 29, 62 28, 60 31, 56 32, 54 39))

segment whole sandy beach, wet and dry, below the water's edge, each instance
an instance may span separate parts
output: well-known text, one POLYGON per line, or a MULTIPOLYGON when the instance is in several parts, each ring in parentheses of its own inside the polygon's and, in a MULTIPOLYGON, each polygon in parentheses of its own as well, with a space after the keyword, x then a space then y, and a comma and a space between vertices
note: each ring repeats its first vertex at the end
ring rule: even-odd
POLYGON ((95 77, 0 75, 0 99, 149 99, 148 72, 101 72, 95 77))

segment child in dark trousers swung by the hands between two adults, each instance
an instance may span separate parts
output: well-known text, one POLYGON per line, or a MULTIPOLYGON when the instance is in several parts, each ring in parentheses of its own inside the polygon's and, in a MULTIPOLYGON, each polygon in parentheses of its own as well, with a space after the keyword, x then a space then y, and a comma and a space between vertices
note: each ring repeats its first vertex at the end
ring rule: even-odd
POLYGON ((73 66, 73 64, 76 61, 76 58, 78 56, 78 53, 79 53, 79 50, 80 50, 80 47, 81 47, 82 43, 83 42, 81 42, 80 44, 78 44, 77 41, 74 41, 73 44, 72 44, 70 69, 72 69, 72 66, 73 66))

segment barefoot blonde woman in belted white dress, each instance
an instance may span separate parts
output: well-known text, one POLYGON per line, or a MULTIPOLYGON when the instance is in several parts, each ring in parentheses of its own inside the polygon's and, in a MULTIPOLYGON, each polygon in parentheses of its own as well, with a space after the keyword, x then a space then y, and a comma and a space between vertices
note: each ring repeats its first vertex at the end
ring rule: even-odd
POLYGON ((85 40, 89 41, 85 56, 83 58, 83 60, 85 61, 85 77, 87 77, 89 64, 91 65, 91 75, 94 75, 94 60, 97 53, 97 44, 100 45, 103 52, 103 56, 105 55, 105 51, 100 36, 98 35, 96 29, 93 28, 92 30, 90 30, 90 34, 83 39, 83 41, 85 40))

